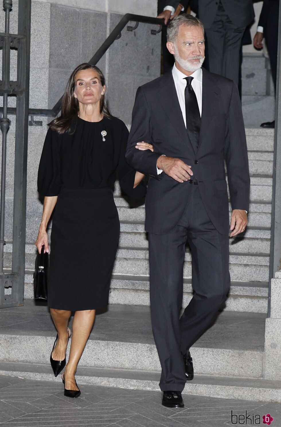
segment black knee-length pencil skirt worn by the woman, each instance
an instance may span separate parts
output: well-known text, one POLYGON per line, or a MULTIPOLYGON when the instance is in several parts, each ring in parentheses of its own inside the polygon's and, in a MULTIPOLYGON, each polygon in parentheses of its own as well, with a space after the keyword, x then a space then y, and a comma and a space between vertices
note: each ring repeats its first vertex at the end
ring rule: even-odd
POLYGON ((108 304, 119 233, 110 188, 61 189, 51 233, 50 308, 94 310, 108 304))

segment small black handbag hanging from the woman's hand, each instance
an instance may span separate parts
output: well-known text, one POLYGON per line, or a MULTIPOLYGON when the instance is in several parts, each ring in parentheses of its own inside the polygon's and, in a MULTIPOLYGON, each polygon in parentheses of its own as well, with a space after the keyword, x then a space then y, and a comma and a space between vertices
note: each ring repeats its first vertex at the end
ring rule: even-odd
POLYGON ((41 254, 37 254, 35 260, 35 271, 33 273, 34 283, 34 299, 36 301, 47 300, 47 280, 49 269, 49 255, 47 252, 44 254, 44 245, 41 249, 41 254))

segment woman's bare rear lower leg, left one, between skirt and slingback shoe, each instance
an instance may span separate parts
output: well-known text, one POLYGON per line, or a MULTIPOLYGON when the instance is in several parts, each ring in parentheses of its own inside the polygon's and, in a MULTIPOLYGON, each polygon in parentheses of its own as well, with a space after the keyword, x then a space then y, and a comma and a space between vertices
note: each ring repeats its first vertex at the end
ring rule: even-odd
POLYGON ((68 341, 67 325, 71 311, 50 308, 50 312, 59 336, 56 347, 52 352, 52 358, 53 360, 64 360, 68 341))

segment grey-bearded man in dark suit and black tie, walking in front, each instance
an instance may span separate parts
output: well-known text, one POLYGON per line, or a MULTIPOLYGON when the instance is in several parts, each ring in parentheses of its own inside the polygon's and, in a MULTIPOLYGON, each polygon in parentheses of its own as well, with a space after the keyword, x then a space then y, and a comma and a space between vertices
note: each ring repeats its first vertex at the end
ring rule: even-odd
POLYGON ((183 407, 181 392, 193 378, 189 348, 214 320, 230 286, 224 156, 231 236, 246 227, 250 179, 238 89, 231 80, 201 69, 202 23, 179 15, 167 35, 175 65, 138 88, 126 159, 149 175, 145 229, 162 404, 183 407), (140 141, 152 143, 154 152, 136 149, 140 141), (186 241, 194 295, 179 319, 186 241))

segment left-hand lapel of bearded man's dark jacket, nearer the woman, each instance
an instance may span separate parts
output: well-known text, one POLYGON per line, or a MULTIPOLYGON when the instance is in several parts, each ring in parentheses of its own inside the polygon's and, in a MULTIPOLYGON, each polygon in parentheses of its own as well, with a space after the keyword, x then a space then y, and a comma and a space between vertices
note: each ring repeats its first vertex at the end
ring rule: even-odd
POLYGON ((182 117, 181 107, 176 92, 175 82, 172 76, 172 70, 164 74, 161 81, 161 88, 159 91, 159 101, 164 109, 171 124, 175 128, 175 132, 179 134, 184 143, 188 144, 192 149, 184 119, 182 117))

